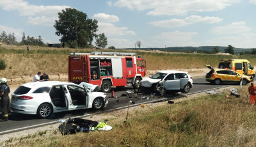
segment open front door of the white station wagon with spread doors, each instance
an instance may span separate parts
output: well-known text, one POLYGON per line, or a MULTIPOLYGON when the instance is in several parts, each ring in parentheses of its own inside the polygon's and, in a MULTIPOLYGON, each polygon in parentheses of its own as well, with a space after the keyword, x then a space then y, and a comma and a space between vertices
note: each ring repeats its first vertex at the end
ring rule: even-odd
POLYGON ((67 89, 68 94, 70 95, 70 104, 68 109, 84 109, 88 107, 88 96, 84 88, 67 85, 67 89))

